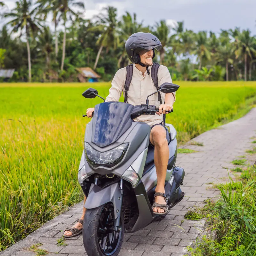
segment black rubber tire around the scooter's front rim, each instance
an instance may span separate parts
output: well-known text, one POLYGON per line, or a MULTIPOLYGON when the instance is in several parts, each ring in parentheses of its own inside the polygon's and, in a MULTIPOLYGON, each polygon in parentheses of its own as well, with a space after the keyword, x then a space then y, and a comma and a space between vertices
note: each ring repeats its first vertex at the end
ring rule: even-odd
POLYGON ((115 252, 113 254, 106 254, 104 253, 99 244, 98 240, 98 228, 99 228, 99 218, 100 214, 103 210, 105 205, 101 205, 94 209, 87 209, 84 216, 84 224, 83 224, 83 241, 84 241, 84 248, 88 256, 117 256, 124 239, 124 219, 121 215, 121 225, 122 229, 119 232, 119 236, 121 233, 121 239, 118 238, 118 243, 116 245, 115 252))

